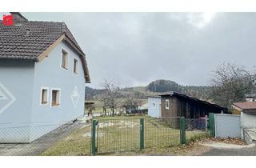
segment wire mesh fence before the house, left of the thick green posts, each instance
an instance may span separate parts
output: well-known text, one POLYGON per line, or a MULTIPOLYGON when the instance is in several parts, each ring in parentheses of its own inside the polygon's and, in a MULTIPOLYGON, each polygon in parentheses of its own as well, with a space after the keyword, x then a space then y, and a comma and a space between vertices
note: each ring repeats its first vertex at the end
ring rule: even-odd
POLYGON ((75 137, 75 132, 79 130, 85 132, 87 130, 90 133, 90 123, 40 123, 29 126, 24 123, 21 126, 2 124, 0 156, 78 155, 78 151, 82 151, 82 154, 90 154, 90 134, 83 138, 75 137), (72 146, 72 144, 78 146, 78 142, 84 147, 72 146))

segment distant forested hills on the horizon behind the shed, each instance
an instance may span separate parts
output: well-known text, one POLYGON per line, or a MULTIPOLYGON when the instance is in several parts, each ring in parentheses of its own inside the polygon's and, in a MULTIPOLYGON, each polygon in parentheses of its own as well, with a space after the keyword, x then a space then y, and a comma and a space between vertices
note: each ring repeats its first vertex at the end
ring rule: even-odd
MULTIPOLYGON (((103 91, 104 90, 93 89, 86 86, 86 99, 98 99, 101 94, 103 94, 103 91)), ((150 82, 148 86, 123 88, 121 94, 124 96, 134 96, 139 94, 141 98, 146 98, 146 96, 156 95, 167 91, 177 91, 195 98, 208 100, 210 86, 182 86, 177 82, 170 80, 156 80, 150 82)))

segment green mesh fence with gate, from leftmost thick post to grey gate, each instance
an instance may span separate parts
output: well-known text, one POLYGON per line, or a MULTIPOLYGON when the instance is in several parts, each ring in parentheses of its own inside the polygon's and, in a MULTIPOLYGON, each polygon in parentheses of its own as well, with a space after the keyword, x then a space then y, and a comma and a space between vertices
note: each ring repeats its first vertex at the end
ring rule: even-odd
POLYGON ((178 146, 208 136, 204 118, 118 118, 92 123, 92 154, 178 146))

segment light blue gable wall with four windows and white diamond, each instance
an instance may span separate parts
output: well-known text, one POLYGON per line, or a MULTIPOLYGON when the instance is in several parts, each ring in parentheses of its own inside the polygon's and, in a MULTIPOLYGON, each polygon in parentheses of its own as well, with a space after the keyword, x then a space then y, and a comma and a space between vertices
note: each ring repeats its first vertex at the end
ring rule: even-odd
POLYGON ((82 62, 78 54, 61 42, 44 58, 42 62, 34 66, 34 90, 31 115, 30 141, 54 130, 66 122, 70 122, 84 114, 85 78, 82 62), (68 52, 68 68, 61 67, 62 49, 68 52), (74 73, 74 58, 78 60, 78 74, 74 73), (47 105, 40 105, 41 88, 49 88, 47 105), (51 106, 51 90, 60 90, 60 106, 51 106), (71 95, 78 90, 78 102, 73 102, 71 95))

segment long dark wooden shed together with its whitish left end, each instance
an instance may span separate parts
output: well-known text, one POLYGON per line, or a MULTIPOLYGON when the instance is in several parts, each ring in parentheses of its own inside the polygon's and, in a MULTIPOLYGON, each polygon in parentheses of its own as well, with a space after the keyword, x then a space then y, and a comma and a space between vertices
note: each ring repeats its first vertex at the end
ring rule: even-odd
POLYGON ((151 98, 149 98, 149 115, 152 117, 158 117, 154 114, 159 113, 160 118, 202 118, 209 115, 209 113, 221 114, 228 112, 228 110, 222 106, 202 101, 198 98, 192 98, 177 92, 160 94, 158 97, 154 98, 155 100, 153 102, 152 99, 150 99, 151 98), (158 103, 160 106, 159 112, 154 112, 154 114, 150 113, 150 111, 154 111, 153 103, 158 103), (151 110, 151 108, 153 108, 153 110, 151 110))

